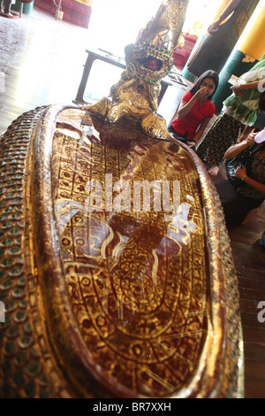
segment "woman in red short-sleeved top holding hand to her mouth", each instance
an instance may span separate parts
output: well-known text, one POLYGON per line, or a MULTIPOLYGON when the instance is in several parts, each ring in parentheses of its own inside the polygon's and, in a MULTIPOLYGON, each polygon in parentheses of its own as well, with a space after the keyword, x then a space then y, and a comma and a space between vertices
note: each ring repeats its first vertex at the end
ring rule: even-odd
POLYGON ((219 77, 215 71, 202 73, 193 88, 182 97, 172 118, 168 128, 170 134, 191 148, 200 140, 215 113, 216 108, 211 100, 218 82, 219 77))

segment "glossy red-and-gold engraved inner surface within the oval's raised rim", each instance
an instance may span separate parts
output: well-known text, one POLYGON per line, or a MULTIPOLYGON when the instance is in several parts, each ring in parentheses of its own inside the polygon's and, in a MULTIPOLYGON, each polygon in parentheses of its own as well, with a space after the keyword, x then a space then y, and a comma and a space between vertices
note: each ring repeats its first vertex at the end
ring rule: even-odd
POLYGON ((197 173, 183 150, 170 147, 149 143, 128 154, 102 144, 79 146, 60 133, 54 138, 57 229, 79 331, 97 365, 149 397, 171 395, 188 380, 207 330, 197 173), (104 188, 110 172, 132 184, 132 199, 133 181, 151 183, 157 173, 161 182, 181 179, 170 221, 152 204, 149 212, 133 212, 133 201, 131 212, 106 212, 104 204, 97 206, 102 212, 87 212, 87 181, 104 188))

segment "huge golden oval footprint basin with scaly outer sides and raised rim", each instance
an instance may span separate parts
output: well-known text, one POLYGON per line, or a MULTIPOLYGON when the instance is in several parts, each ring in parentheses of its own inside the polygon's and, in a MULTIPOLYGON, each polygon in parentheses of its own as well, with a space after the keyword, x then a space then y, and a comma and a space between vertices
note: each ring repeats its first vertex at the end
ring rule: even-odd
POLYGON ((193 150, 119 149, 52 105, 1 160, 2 397, 242 396, 231 247, 193 150))

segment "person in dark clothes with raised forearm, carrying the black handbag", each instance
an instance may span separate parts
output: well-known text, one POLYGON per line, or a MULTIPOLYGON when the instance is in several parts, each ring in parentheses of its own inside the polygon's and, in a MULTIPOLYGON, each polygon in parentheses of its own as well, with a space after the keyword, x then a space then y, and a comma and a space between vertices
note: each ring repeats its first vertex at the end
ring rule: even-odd
MULTIPOLYGON (((232 159, 254 143, 257 133, 251 133, 246 140, 233 144, 224 154, 224 158, 232 159)), ((223 205, 223 212, 227 225, 239 225, 246 214, 262 204, 265 199, 265 142, 260 150, 254 154, 251 173, 246 173, 246 167, 238 167, 232 176, 246 183, 237 189, 229 180, 215 181, 217 192, 223 205)))

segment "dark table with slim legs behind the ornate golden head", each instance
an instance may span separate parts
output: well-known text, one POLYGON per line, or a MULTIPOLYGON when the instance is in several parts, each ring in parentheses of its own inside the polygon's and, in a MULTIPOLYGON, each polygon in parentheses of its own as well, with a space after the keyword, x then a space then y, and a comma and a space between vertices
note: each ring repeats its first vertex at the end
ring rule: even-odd
MULTIPOLYGON (((84 100, 84 92, 87 86, 87 80, 89 77, 89 73, 91 71, 92 65, 94 64, 96 59, 100 59, 103 62, 106 62, 107 64, 118 66, 119 68, 125 68, 126 63, 124 58, 116 57, 111 52, 108 52, 107 50, 86 50, 87 52, 87 61, 84 65, 84 70, 82 74, 81 81, 79 83, 79 89, 77 92, 77 95, 75 97, 75 100, 73 100, 76 104, 84 104, 86 103, 84 100)), ((161 81, 161 91, 160 95, 158 97, 158 105, 161 103, 162 98, 169 87, 169 85, 172 85, 170 81, 162 80, 161 81)))

